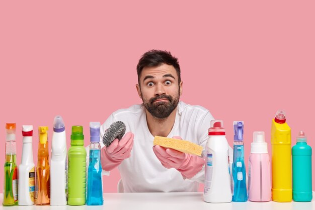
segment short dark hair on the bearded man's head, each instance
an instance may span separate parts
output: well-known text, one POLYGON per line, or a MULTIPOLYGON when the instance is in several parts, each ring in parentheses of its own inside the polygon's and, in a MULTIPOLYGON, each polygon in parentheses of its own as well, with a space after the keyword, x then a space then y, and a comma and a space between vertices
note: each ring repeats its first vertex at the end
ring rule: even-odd
POLYGON ((171 54, 171 52, 168 52, 166 50, 151 49, 145 52, 141 56, 137 64, 137 74, 138 74, 139 85, 140 85, 140 75, 144 67, 159 66, 159 65, 162 65, 163 63, 166 63, 168 65, 173 65, 173 67, 176 69, 176 72, 177 72, 178 84, 179 84, 181 82, 181 68, 179 67, 177 57, 174 57, 171 54))

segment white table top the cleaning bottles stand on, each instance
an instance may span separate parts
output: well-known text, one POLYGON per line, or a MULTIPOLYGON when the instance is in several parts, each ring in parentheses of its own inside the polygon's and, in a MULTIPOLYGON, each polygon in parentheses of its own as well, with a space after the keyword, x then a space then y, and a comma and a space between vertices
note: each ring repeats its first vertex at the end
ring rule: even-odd
MULTIPOLYGON (((313 196, 315 193, 313 192, 313 196)), ((3 194, 0 194, 1 204, 3 201, 3 194)), ((31 210, 31 209, 72 209, 72 210, 128 210, 128 209, 145 209, 145 210, 201 210, 201 209, 254 209, 254 210, 309 210, 315 209, 315 201, 311 202, 230 202, 230 203, 207 203, 203 201, 202 192, 151 192, 151 193, 104 193, 104 204, 101 206, 0 206, 0 209, 11 210, 31 210)))

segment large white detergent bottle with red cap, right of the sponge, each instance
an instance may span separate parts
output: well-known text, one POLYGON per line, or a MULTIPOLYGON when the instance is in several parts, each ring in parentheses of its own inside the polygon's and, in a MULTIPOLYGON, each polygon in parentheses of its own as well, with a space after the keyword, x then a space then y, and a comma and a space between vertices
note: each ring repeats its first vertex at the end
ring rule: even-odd
POLYGON ((225 138, 223 121, 211 120, 211 127, 208 131, 203 199, 211 203, 231 202, 229 147, 225 138))

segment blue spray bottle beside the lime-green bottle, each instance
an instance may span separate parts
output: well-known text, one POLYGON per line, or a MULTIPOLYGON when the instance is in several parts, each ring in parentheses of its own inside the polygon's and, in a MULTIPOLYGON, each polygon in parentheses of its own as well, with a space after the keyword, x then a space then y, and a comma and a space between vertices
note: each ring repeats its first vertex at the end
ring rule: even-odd
POLYGON ((87 205, 103 205, 100 126, 100 122, 90 122, 91 143, 87 205))

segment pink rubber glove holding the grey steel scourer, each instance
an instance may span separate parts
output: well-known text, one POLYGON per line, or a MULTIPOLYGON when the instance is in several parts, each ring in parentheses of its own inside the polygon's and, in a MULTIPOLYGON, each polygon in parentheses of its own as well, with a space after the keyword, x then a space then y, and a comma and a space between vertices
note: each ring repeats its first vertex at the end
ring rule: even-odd
POLYGON ((120 141, 116 138, 109 147, 101 149, 101 164, 105 171, 116 168, 123 160, 130 157, 133 146, 132 132, 127 132, 120 141))

